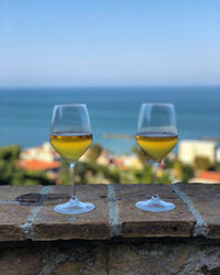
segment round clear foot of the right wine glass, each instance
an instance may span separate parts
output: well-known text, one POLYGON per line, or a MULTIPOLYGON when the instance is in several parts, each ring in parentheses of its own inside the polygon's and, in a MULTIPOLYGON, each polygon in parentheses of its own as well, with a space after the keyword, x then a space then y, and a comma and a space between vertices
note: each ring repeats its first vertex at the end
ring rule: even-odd
POLYGON ((166 202, 160 199, 158 195, 154 195, 148 200, 139 201, 135 206, 144 211, 152 211, 152 212, 164 212, 170 211, 175 209, 175 205, 172 202, 166 202))

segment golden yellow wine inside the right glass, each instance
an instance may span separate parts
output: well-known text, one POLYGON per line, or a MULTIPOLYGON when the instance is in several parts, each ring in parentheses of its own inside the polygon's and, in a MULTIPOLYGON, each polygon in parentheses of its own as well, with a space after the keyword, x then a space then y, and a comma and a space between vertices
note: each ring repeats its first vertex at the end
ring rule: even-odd
POLYGON ((162 161, 176 145, 178 136, 173 133, 142 133, 136 135, 139 146, 147 157, 162 161))

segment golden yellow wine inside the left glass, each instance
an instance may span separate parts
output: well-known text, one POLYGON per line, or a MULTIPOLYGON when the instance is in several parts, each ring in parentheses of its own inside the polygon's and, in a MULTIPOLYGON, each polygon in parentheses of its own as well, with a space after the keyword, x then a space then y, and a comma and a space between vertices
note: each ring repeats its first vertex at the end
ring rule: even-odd
POLYGON ((58 132, 50 135, 51 144, 64 158, 76 162, 87 151, 92 142, 92 135, 87 133, 58 132))

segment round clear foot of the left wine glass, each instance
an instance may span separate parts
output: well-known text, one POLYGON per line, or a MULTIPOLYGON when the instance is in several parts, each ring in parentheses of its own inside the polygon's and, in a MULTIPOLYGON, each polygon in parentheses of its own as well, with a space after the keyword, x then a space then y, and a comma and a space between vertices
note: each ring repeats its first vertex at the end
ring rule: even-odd
POLYGON ((66 204, 57 205, 54 207, 54 211, 58 213, 86 213, 95 209, 95 206, 90 202, 81 202, 78 199, 70 199, 66 204))

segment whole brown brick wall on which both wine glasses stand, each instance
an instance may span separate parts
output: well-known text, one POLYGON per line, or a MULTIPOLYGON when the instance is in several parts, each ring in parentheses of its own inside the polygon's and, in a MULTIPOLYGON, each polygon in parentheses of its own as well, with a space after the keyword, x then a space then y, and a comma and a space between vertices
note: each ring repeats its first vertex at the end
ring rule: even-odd
POLYGON ((220 185, 158 185, 169 212, 135 208, 151 185, 77 186, 96 209, 59 215, 70 186, 0 187, 0 274, 220 274, 220 185))

